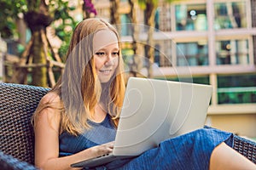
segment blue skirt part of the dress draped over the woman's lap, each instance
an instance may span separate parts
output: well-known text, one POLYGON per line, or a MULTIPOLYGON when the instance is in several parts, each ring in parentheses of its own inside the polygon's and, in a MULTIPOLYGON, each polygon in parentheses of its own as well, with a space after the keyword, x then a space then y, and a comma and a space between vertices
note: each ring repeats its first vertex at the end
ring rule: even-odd
POLYGON ((222 142, 231 146, 232 133, 202 128, 167 139, 136 158, 113 161, 96 169, 208 169, 212 150, 222 142))

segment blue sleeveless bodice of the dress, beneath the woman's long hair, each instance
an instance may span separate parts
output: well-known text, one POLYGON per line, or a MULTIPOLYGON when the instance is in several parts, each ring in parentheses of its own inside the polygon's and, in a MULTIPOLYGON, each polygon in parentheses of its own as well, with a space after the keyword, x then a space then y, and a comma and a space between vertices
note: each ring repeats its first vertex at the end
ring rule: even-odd
POLYGON ((67 132, 61 133, 59 137, 59 156, 70 156, 92 146, 105 144, 115 139, 116 129, 108 114, 100 123, 91 121, 88 121, 88 123, 90 129, 78 136, 67 132))

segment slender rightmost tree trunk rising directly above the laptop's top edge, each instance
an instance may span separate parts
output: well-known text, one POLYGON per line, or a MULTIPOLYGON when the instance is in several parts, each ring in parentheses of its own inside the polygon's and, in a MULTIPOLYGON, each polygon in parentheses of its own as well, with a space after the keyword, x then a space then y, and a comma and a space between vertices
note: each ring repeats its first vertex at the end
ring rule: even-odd
POLYGON ((145 20, 146 25, 148 26, 148 39, 146 44, 146 55, 148 58, 148 77, 153 77, 153 68, 152 65, 154 64, 154 13, 155 13, 156 7, 154 4, 146 3, 146 14, 145 14, 145 20))

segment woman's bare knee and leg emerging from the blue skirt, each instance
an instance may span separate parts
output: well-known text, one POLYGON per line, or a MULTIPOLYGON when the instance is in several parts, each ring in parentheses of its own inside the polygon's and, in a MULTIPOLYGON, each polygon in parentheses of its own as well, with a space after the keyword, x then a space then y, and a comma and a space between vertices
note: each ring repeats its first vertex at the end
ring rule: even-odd
POLYGON ((221 143, 212 151, 209 169, 255 170, 256 165, 227 144, 221 143))

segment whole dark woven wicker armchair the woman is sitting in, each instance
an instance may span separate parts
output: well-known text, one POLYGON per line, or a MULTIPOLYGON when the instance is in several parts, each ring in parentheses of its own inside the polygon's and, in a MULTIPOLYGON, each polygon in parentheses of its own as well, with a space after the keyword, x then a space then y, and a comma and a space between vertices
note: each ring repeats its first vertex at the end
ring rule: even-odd
MULTIPOLYGON (((5 169, 35 168, 31 165, 34 162, 31 116, 48 91, 49 88, 0 83, 0 165, 5 169)), ((233 149, 256 163, 253 141, 234 135, 233 149)))

